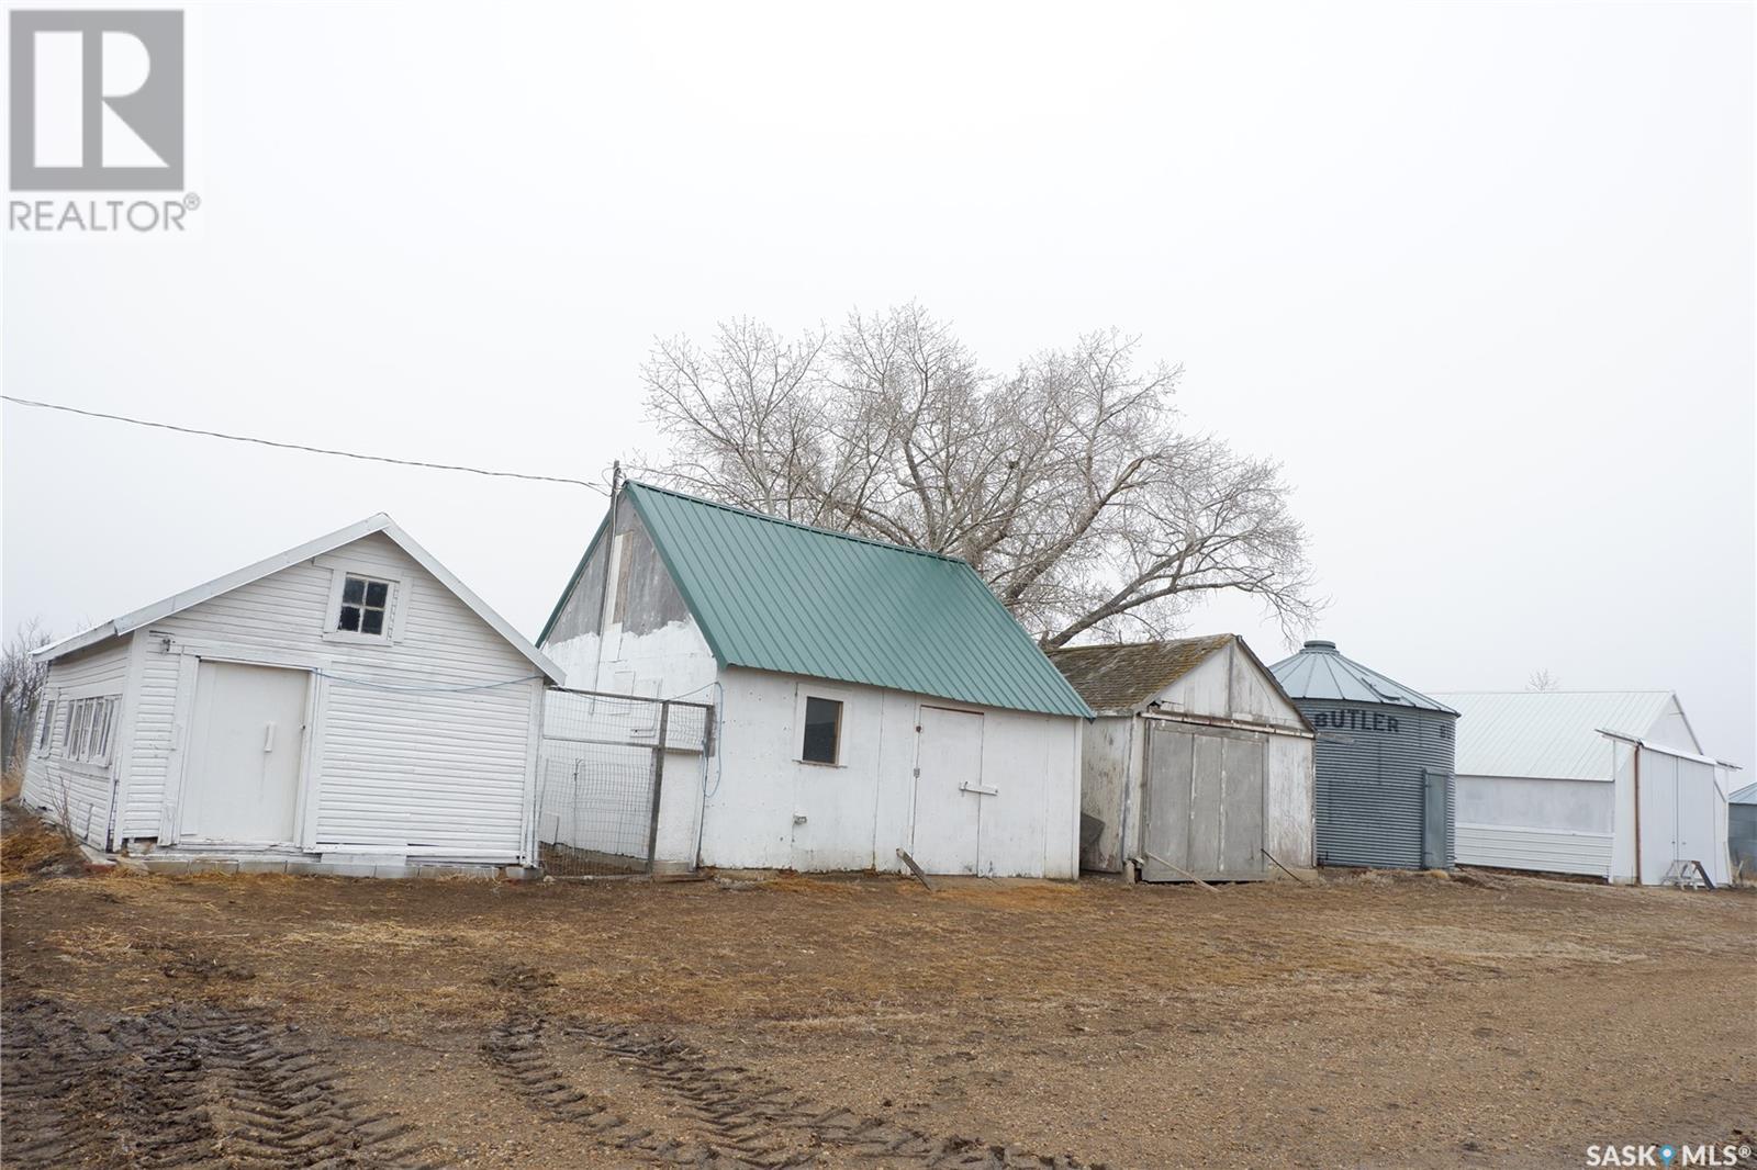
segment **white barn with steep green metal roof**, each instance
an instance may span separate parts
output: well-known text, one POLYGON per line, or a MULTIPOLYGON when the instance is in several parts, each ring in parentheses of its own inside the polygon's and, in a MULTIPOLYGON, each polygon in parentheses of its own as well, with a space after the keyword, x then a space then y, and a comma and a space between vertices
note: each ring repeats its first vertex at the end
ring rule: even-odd
POLYGON ((631 481, 538 641, 569 687, 713 704, 661 866, 1077 873, 1091 710, 956 557, 631 481))

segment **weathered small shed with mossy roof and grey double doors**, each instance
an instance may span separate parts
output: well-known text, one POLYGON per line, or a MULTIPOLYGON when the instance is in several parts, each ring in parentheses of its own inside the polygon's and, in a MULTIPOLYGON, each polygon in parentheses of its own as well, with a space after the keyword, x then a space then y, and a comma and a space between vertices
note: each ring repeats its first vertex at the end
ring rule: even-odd
POLYGON ((1237 882, 1312 864, 1312 729, 1237 634, 1052 650, 1086 729, 1081 868, 1237 882), (1267 854, 1267 856, 1265 856, 1267 854))

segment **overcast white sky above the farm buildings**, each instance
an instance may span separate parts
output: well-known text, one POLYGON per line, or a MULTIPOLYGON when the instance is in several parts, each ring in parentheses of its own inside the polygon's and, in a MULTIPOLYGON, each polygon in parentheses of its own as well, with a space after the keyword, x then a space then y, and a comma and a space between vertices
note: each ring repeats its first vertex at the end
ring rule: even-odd
MULTIPOLYGON (((1750 5, 190 11, 204 232, 7 235, 7 394, 596 478, 655 334, 919 299, 1003 369, 1117 325, 1286 462, 1344 654, 1671 687, 1757 764, 1750 5)), ((7 627, 383 509, 536 632, 601 509, 4 425, 7 627)))

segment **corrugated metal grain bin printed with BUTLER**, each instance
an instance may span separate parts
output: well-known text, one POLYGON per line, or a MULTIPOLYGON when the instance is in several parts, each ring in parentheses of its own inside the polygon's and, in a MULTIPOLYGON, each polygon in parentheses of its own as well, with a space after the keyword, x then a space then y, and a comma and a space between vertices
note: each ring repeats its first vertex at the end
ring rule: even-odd
POLYGON ((1270 669, 1318 733, 1318 864, 1450 870, 1458 711, 1334 641, 1307 641, 1270 669))

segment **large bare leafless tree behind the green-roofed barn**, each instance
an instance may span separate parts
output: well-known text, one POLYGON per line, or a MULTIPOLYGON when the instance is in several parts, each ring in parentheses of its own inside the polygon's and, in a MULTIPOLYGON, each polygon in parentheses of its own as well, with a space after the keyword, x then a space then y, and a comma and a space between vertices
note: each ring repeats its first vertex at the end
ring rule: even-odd
POLYGON ((968 560, 1047 645, 1160 636, 1240 590, 1293 636, 1318 610, 1279 466, 1179 429, 1179 367, 1116 330, 994 374, 919 306, 785 339, 752 320, 659 341, 643 474, 968 560))

